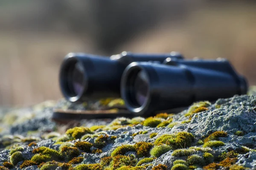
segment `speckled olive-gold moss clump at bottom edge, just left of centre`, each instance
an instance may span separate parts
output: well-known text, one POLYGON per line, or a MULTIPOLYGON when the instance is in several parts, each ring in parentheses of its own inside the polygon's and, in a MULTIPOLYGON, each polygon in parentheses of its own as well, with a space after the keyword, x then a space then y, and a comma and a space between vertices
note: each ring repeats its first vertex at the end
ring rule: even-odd
POLYGON ((113 160, 110 163, 110 167, 113 170, 122 167, 122 166, 135 166, 137 164, 137 160, 134 155, 123 156, 118 155, 113 157, 113 160))

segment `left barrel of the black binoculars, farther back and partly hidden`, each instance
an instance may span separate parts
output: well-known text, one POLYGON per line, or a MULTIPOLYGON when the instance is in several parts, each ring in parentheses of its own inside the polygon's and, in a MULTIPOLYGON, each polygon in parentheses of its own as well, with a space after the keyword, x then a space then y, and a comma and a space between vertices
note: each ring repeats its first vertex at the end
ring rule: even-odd
POLYGON ((61 65, 59 82, 61 92, 70 102, 86 99, 120 97, 122 73, 131 62, 156 61, 166 58, 183 59, 177 52, 169 54, 132 54, 122 52, 111 57, 84 53, 70 53, 61 65))

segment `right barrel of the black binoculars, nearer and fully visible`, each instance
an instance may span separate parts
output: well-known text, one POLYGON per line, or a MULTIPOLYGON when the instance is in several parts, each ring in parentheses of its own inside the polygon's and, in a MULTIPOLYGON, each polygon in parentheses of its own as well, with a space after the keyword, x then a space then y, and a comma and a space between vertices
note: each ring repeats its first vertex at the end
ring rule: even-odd
POLYGON ((135 116, 246 93, 246 80, 226 59, 133 62, 121 80, 122 99, 135 116))

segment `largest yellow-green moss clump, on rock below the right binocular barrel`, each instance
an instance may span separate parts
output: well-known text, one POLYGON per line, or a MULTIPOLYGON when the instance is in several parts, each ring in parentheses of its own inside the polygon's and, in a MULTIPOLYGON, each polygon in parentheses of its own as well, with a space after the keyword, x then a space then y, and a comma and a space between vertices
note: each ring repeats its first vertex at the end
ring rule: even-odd
POLYGON ((179 132, 175 135, 165 134, 156 139, 155 145, 167 144, 172 146, 174 149, 190 147, 194 141, 194 136, 188 132, 179 132))

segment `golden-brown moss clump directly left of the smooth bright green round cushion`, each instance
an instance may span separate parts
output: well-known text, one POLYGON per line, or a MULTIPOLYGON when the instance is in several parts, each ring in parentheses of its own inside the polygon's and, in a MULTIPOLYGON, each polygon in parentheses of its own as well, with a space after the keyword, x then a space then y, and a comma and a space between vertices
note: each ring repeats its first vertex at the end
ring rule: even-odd
POLYGON ((140 157, 147 157, 149 156, 149 152, 151 148, 154 146, 154 144, 150 142, 137 142, 134 147, 137 152, 137 156, 140 157))

